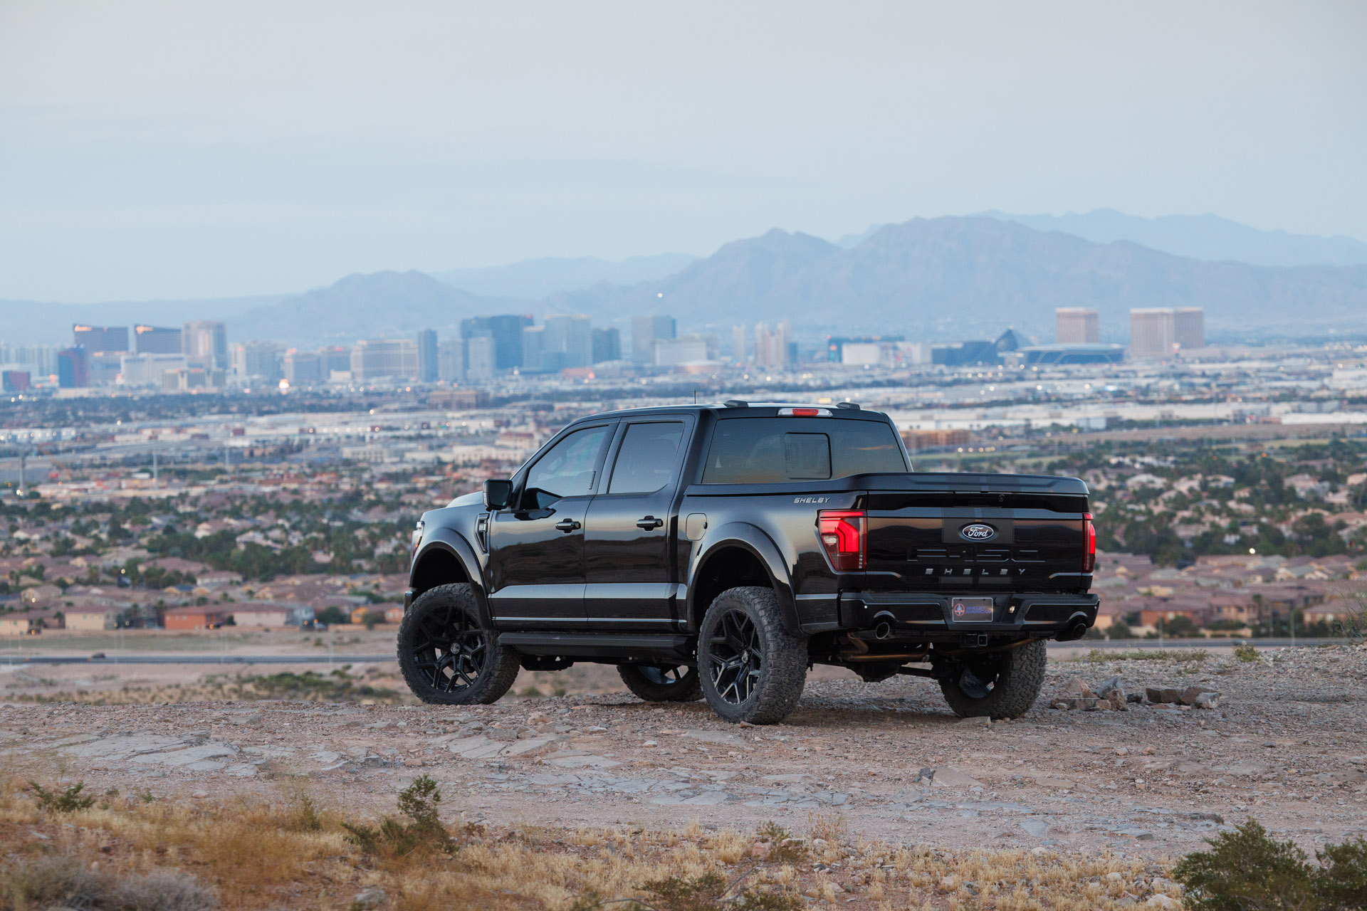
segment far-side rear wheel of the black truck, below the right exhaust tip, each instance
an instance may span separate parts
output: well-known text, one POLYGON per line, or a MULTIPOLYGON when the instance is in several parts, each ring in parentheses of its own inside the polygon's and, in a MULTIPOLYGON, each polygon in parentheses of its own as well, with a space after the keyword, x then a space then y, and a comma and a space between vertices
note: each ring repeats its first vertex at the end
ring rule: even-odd
POLYGON ((940 691, 960 717, 1018 718, 1039 698, 1046 661, 1042 639, 1005 651, 957 656, 940 679, 940 691))

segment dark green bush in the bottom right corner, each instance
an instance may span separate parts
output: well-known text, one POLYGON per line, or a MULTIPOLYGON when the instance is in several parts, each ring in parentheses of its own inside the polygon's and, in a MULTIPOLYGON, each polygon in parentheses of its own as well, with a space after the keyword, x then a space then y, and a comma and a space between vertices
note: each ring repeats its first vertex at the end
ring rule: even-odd
POLYGON ((1325 845, 1319 866, 1292 841, 1274 841, 1255 819, 1207 840, 1173 867, 1191 911, 1362 911, 1367 841, 1325 845))

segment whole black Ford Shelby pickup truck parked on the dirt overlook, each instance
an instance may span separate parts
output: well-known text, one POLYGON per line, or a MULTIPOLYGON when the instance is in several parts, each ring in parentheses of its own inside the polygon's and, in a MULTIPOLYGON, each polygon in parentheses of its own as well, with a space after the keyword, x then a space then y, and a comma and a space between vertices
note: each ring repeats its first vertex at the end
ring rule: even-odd
POLYGON ((1096 619, 1094 560, 1081 481, 912 473, 850 403, 614 411, 424 514, 398 658, 437 703, 597 661, 642 699, 764 724, 834 664, 1018 717, 1044 641, 1096 619))

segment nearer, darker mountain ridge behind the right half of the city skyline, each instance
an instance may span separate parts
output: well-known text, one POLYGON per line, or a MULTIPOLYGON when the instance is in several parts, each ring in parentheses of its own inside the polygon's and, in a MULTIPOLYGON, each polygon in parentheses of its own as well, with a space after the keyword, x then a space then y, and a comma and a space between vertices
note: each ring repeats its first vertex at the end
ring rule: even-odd
POLYGON ((1204 307, 1218 328, 1296 332, 1367 314, 1367 266, 1207 262, 999 219, 945 217, 884 225, 849 249, 771 231, 660 281, 547 300, 548 310, 600 318, 663 309, 712 329, 786 317, 833 333, 909 337, 972 337, 1007 325, 1050 336, 1054 307, 1064 306, 1096 307, 1103 335, 1117 340, 1128 335, 1131 307, 1154 306, 1204 307))

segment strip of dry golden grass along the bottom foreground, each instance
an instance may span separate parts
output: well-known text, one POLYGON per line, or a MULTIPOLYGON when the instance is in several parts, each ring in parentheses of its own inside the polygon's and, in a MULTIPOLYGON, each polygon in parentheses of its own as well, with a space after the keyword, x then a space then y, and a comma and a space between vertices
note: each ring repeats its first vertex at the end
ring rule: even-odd
POLYGON ((349 840, 344 824, 354 826, 357 819, 320 803, 299 783, 282 783, 294 792, 273 803, 101 795, 92 807, 45 813, 26 789, 26 779, 5 781, 0 785, 3 911, 53 906, 113 911, 115 906, 93 899, 49 900, 60 888, 42 882, 66 875, 62 888, 92 889, 90 871, 109 877, 101 882, 126 884, 119 886, 124 892, 100 885, 101 896, 133 895, 127 889, 137 886, 144 897, 127 907, 153 911, 206 911, 213 896, 226 911, 349 908, 368 888, 384 892, 376 911, 589 911, 632 901, 659 911, 786 911, 800 907, 796 901, 805 904, 797 897, 802 893, 834 900, 820 907, 858 911, 1106 911, 1143 903, 1155 892, 1177 895, 1159 878, 1167 875, 1163 869, 1131 859, 853 843, 838 814, 809 819, 807 844, 822 839, 839 854, 838 867, 822 870, 815 863, 826 856, 824 848, 816 856, 800 850, 798 840, 790 841, 797 845, 791 852, 775 851, 791 840, 776 825, 757 833, 696 825, 674 832, 451 826, 459 844, 454 854, 414 851, 381 860, 349 840), (46 839, 34 839, 36 832, 46 839), (41 863, 52 866, 36 866, 41 863))

